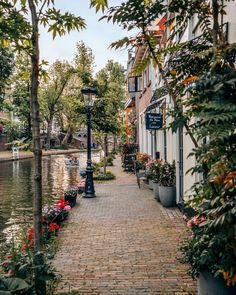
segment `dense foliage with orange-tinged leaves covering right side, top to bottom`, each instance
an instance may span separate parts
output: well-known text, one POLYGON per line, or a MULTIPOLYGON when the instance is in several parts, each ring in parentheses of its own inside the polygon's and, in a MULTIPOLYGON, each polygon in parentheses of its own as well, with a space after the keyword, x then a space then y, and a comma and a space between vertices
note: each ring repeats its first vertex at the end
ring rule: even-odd
MULTIPOLYGON (((98 0, 93 5, 99 9, 107 3, 98 0)), ((202 173, 203 179, 193 186, 188 205, 206 220, 200 227, 200 235, 196 234, 195 240, 184 248, 191 254, 185 256, 193 263, 191 272, 196 274, 210 268, 231 285, 236 274, 236 44, 228 44, 225 38, 225 5, 219 0, 128 0, 109 8, 104 18, 128 30, 141 30, 137 38, 124 38, 112 47, 147 46, 147 59, 136 70, 143 69, 150 59, 157 65, 174 103, 170 113, 174 122, 170 127, 176 131, 184 126, 195 146, 192 155, 197 165, 192 172, 202 173), (164 13, 172 30, 166 48, 161 48, 148 26, 164 13), (185 32, 189 20, 196 15, 202 35, 176 42, 176 37, 185 32), (196 251, 199 249, 203 251, 196 251)))

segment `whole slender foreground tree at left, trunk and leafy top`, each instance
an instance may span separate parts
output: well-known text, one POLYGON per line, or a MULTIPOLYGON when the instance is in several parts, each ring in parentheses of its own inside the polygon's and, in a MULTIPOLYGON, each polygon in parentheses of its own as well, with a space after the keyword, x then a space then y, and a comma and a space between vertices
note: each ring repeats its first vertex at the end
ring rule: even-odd
POLYGON ((40 266, 42 258, 42 150, 40 145, 40 117, 38 103, 39 87, 39 24, 48 27, 52 32, 53 38, 57 34, 63 35, 71 30, 85 28, 84 20, 80 17, 66 12, 62 14, 56 10, 53 0, 35 1, 19 0, 0 2, 1 8, 1 34, 2 44, 11 42, 18 50, 26 51, 31 58, 31 77, 30 77, 30 106, 31 122, 33 133, 33 152, 34 152, 34 241, 35 241, 35 263, 36 263, 36 290, 37 293, 45 294, 45 284, 40 279, 40 266), (28 10, 26 5, 28 4, 28 10), (27 19, 30 16, 31 23, 27 19))

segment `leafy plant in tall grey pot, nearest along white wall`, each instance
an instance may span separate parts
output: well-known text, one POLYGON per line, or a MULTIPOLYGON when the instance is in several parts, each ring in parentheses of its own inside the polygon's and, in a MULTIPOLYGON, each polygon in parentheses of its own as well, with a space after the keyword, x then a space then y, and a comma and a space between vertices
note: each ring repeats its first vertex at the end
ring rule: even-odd
POLYGON ((160 166, 159 197, 164 207, 172 207, 176 203, 175 175, 175 162, 163 162, 160 166))

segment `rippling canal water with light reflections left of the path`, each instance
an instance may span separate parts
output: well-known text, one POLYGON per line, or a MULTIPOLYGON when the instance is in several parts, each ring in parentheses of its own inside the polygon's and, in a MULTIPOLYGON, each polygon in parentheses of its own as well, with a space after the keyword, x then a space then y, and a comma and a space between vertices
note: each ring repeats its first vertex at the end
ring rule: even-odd
MULTIPOLYGON (((86 166, 86 153, 76 154, 80 169, 86 166)), ((43 157, 43 202, 53 202, 63 196, 70 185, 80 180, 79 169, 65 165, 65 155, 43 157)), ((93 159, 99 159, 94 154, 93 159)), ((0 163, 0 244, 19 232, 23 223, 32 222, 33 161, 0 163)))

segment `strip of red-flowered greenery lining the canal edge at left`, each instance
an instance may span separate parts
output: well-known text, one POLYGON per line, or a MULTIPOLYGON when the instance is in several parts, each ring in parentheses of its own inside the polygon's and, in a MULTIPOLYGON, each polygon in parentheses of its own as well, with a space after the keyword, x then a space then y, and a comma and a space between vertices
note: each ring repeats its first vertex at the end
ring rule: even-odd
POLYGON ((43 206, 43 253, 35 253, 33 227, 22 227, 17 239, 13 237, 1 257, 0 294, 39 294, 39 287, 40 292, 41 288, 44 290, 40 294, 53 294, 60 279, 50 264, 56 251, 57 235, 83 190, 81 186, 80 189, 73 186, 64 192, 64 198, 43 206), (39 258, 41 263, 35 267, 39 258))

